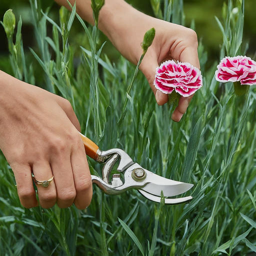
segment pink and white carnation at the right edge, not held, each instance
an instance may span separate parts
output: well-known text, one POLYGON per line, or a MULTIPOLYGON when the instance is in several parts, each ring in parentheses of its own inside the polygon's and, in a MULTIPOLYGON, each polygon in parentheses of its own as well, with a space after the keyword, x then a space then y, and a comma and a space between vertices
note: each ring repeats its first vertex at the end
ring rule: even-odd
POLYGON ((246 56, 224 57, 217 65, 215 77, 220 82, 256 84, 256 62, 246 56))

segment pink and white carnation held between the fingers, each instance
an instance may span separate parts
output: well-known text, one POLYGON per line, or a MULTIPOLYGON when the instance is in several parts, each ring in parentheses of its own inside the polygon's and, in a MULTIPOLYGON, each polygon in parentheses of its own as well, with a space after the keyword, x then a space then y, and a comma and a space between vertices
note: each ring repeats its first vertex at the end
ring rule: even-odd
POLYGON ((156 67, 154 86, 166 94, 175 89, 188 97, 202 86, 201 72, 190 63, 167 60, 156 67))

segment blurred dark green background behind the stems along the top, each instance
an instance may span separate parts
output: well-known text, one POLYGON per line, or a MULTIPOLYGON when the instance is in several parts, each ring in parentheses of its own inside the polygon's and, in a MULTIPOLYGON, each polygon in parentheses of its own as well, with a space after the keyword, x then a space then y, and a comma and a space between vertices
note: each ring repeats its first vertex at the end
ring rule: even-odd
MULTIPOLYGON (((131 5, 140 11, 153 16, 150 0, 127 0, 131 5)), ((219 59, 219 48, 222 43, 222 35, 218 28, 217 22, 214 16, 217 16, 221 21, 221 9, 224 0, 184 0, 184 13, 185 13, 185 25, 190 26, 191 21, 195 22, 195 31, 198 36, 198 40, 202 41, 207 53, 208 53, 208 65, 213 61, 219 59)), ((225 0, 227 2, 227 0, 225 0)), ((58 8, 59 6, 53 0, 44 0, 41 6, 45 10, 50 6, 51 18, 58 22, 58 8)), ((256 22, 255 22, 255 7, 256 0, 245 0, 245 17, 244 17, 244 41, 249 43, 248 56, 255 59, 256 57, 256 22)), ((34 46, 33 28, 30 22, 30 6, 29 0, 0 0, 0 20, 3 18, 4 12, 8 9, 13 9, 16 19, 19 15, 22 17, 22 37, 24 43, 24 49, 29 51, 28 47, 34 46)), ((49 35, 51 34, 49 25, 49 35)), ((8 47, 7 39, 0 26, 0 69, 11 73, 10 64, 8 61, 8 47)), ((100 40, 103 42, 107 38, 102 34, 100 40)), ((79 45, 86 46, 87 38, 81 29, 80 23, 75 20, 72 27, 71 34, 69 36, 69 43, 75 45, 78 50, 79 45)), ((101 42, 101 43, 102 43, 101 42)), ((114 61, 118 58, 119 53, 111 45, 109 41, 103 48, 103 53, 107 53, 110 60, 114 61)), ((31 56, 32 59, 32 56, 31 56)), ((208 66, 207 65, 207 66, 208 66)))

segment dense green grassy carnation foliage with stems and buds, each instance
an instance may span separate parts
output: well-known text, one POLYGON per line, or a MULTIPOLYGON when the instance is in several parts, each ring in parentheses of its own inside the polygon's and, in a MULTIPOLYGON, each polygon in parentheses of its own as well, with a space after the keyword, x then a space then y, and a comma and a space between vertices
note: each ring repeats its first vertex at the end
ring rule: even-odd
MULTIPOLYGON (((96 18, 103 1, 92 2, 96 18)), ((184 24, 182 0, 151 4, 157 18, 184 24)), ((238 96, 232 81, 217 81, 219 62, 206 68, 207 53, 199 40, 203 86, 181 121, 174 122, 173 104, 158 106, 134 65, 124 57, 111 63, 101 54, 104 43, 99 43, 97 27, 85 23, 75 5, 72 12, 61 7, 59 21, 51 19, 49 8, 40 8, 40 0, 30 5, 37 42, 29 51, 32 59, 23 49, 22 17, 16 23, 8 10, 2 23, 12 74, 36 84, 37 73, 43 73, 45 88, 72 104, 83 134, 104 150, 123 149, 158 175, 194 184, 184 194, 193 199, 164 205, 135 189, 110 196, 93 185, 85 210, 57 205, 27 209, 0 154, 0 255, 255 255, 255 86, 238 96), (78 49, 68 43, 74 19, 87 38, 78 49)), ((223 34, 219 61, 246 55, 243 18, 243 0, 224 2, 222 17, 216 17, 223 34)), ((102 165, 88 162, 91 174, 100 175, 102 165)))

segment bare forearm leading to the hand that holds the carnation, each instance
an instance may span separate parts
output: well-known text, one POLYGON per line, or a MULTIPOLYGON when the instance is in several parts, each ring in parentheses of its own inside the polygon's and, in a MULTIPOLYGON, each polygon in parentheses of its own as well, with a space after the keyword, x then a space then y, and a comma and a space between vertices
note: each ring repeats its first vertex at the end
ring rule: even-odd
MULTIPOLYGON (((55 1, 70 10, 66 0, 55 1)), ((72 5, 74 4, 74 0, 69 1, 72 5)), ((93 24, 93 13, 90 4, 90 0, 76 0, 76 9, 83 19, 93 24)), ((99 12, 98 28, 124 57, 136 63, 142 54, 140 43, 143 41, 143 35, 153 27, 155 20, 134 9, 124 0, 105 0, 105 4, 99 12), (135 48, 135 54, 132 45, 138 45, 135 48)))

